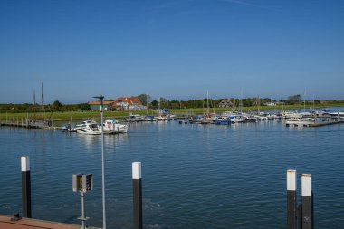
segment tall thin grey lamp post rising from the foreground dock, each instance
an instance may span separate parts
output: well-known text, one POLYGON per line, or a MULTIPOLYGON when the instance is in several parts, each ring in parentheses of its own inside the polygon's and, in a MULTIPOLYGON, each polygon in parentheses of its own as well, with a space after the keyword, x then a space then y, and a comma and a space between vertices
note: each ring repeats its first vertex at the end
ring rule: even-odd
POLYGON ((94 96, 95 99, 100 99, 100 116, 101 116, 101 189, 102 189, 102 227, 106 229, 106 214, 105 214, 105 166, 104 166, 104 129, 103 129, 103 100, 104 96, 94 96))

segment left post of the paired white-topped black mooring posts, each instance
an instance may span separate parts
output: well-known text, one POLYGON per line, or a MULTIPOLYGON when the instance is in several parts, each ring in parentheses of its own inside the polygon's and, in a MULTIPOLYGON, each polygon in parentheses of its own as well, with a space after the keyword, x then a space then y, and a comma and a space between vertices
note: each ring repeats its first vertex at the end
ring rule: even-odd
POLYGON ((287 229, 297 229, 296 170, 287 171, 287 229))

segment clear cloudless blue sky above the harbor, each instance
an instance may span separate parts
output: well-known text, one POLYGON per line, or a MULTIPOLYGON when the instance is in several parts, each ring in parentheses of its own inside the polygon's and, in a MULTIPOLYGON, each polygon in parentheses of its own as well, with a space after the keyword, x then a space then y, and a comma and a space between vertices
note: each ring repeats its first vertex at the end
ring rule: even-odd
POLYGON ((342 0, 1 0, 0 103, 344 99, 342 0))

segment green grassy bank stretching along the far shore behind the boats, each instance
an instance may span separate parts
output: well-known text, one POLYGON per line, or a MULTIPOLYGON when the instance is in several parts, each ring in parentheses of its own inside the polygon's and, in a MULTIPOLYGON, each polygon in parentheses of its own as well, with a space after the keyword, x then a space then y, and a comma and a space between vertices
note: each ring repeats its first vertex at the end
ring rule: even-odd
MULTIPOLYGON (((330 108, 330 107, 344 107, 344 103, 336 103, 336 104, 318 104, 315 108, 330 108)), ((303 109, 303 105, 288 105, 284 106, 284 109, 289 110, 296 110, 296 109, 303 109)), ((306 106, 306 109, 310 109, 310 107, 306 106)), ((227 108, 215 108, 210 109, 210 112, 224 112, 224 111, 231 111, 232 109, 227 108)), ((237 110, 237 109, 236 109, 237 110)), ((243 111, 257 111, 257 107, 244 107, 243 111)), ((282 106, 275 106, 275 107, 267 107, 262 106, 259 108, 260 111, 264 110, 282 110, 282 106)), ((139 114, 139 115, 156 115, 157 113, 153 110, 138 110, 138 111, 129 111, 129 110, 120 110, 120 111, 104 111, 104 118, 115 118, 115 119, 125 119, 129 117, 129 113, 139 114)), ((202 108, 197 109, 181 109, 181 110, 171 110, 171 113, 177 115, 196 115, 196 114, 203 114, 205 110, 202 108)), ((26 117, 29 119, 42 119, 42 113, 11 113, 11 112, 1 112, 0 113, 0 121, 5 122, 6 120, 9 122, 21 122, 22 119, 25 120, 26 117)), ((55 124, 61 124, 69 122, 72 118, 73 122, 80 122, 84 119, 100 119, 100 111, 74 111, 74 112, 53 112, 53 113, 45 113, 44 119, 46 120, 53 120, 55 124)))

